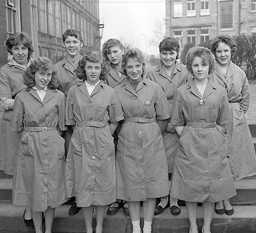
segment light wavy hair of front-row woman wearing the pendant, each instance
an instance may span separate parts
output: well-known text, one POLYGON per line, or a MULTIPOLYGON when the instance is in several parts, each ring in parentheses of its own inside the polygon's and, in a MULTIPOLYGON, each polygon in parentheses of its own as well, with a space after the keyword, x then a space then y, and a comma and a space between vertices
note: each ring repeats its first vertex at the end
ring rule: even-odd
POLYGON ((209 64, 209 74, 215 69, 215 59, 211 51, 205 47, 193 47, 189 49, 186 55, 186 67, 189 73, 192 73, 192 63, 195 57, 201 57, 204 63, 209 64))

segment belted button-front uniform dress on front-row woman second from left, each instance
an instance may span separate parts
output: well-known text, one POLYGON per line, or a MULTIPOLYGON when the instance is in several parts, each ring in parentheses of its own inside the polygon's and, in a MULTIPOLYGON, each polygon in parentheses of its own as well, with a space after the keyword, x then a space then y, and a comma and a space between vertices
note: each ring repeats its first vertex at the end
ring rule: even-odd
POLYGON ((66 124, 76 126, 67 157, 68 197, 76 196, 78 207, 110 205, 116 169, 109 124, 124 119, 117 94, 101 80, 89 96, 83 81, 70 88, 66 106, 66 124))

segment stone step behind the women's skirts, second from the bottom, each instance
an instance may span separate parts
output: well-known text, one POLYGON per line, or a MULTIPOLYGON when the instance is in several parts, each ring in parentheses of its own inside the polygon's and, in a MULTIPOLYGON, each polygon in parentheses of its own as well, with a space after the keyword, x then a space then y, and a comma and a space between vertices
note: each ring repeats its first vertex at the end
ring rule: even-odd
MULTIPOLYGON (((253 176, 254 177, 254 176, 253 176)), ((247 178, 235 181, 235 197, 231 198, 233 205, 256 206, 256 179, 247 178)), ((0 179, 0 200, 12 200, 12 179, 0 179)), ((181 202, 181 205, 183 202, 181 202)))

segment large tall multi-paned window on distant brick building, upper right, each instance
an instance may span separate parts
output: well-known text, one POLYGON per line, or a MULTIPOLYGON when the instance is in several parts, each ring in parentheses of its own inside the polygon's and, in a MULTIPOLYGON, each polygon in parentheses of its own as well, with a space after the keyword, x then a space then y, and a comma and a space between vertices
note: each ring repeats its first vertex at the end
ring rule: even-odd
POLYGON ((220 2, 221 29, 233 29, 233 1, 220 2))

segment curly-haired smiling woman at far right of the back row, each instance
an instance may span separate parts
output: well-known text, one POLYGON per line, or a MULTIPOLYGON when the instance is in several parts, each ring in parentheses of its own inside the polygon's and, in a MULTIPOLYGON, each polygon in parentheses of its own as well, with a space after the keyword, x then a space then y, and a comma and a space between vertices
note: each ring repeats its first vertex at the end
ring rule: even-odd
MULTIPOLYGON (((229 98, 232 120, 228 125, 230 140, 227 157, 234 180, 239 180, 256 174, 255 149, 245 119, 250 104, 249 82, 244 71, 231 60, 236 51, 235 40, 231 36, 217 36, 210 47, 217 60, 216 70, 210 78, 226 89, 229 98)), ((225 199, 216 203, 215 212, 233 215, 234 208, 230 200, 225 199)))

